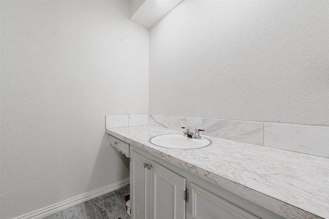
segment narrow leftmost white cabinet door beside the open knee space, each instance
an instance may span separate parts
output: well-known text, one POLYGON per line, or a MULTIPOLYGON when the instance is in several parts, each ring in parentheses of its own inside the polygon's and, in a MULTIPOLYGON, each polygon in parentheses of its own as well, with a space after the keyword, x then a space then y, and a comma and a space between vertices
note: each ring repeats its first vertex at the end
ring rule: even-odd
POLYGON ((132 151, 131 155, 132 218, 149 219, 150 170, 144 167, 144 163, 148 164, 150 161, 135 151, 132 151))

